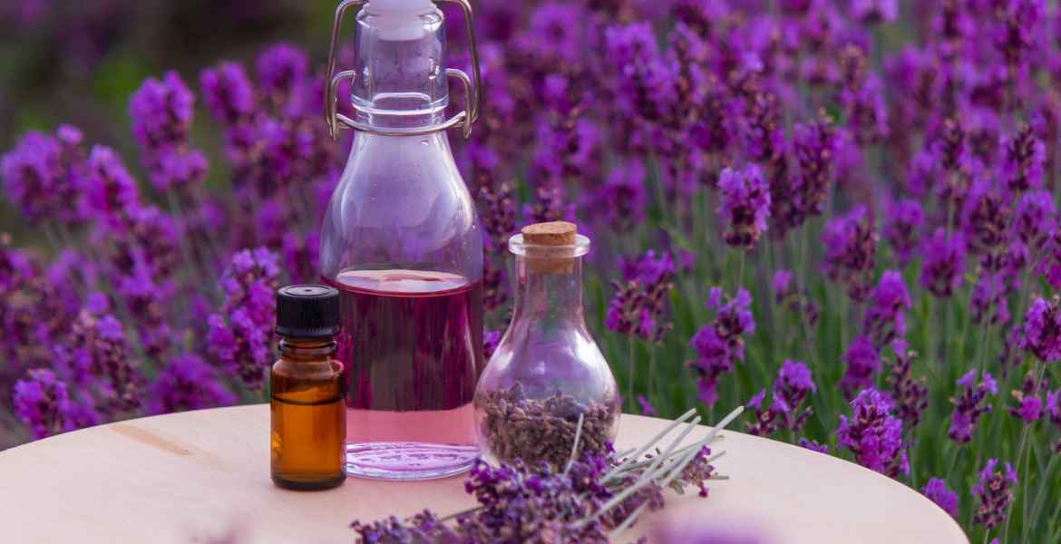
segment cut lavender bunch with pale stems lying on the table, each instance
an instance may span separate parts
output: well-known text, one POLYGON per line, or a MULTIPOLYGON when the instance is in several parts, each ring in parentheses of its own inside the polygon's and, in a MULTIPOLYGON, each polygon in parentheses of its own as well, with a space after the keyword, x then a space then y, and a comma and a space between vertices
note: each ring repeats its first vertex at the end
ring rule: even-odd
MULTIPOLYGON (((741 411, 736 408, 707 436, 682 448, 678 444, 700 421, 693 417, 695 410, 629 455, 616 454, 607 443, 601 452, 584 450, 576 457, 576 443, 562 471, 520 459, 500 467, 480 460, 465 481, 479 506, 445 517, 424 510, 406 520, 392 515, 355 521, 350 527, 362 544, 611 542, 641 512, 663 508, 665 489, 683 493, 696 486, 706 497, 708 480, 725 479, 711 464, 721 453, 712 454, 708 444, 741 411), (657 443, 682 423, 685 428, 660 451, 657 443), (646 455, 649 450, 655 453, 646 455)), ((584 435, 577 431, 580 441, 584 435)))

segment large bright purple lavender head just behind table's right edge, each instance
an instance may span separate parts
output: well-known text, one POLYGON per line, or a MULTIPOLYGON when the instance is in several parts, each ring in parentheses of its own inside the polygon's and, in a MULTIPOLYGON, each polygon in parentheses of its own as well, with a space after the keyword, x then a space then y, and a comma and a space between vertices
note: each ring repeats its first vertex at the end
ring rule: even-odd
POLYGON ((840 416, 836 429, 839 448, 855 456, 858 464, 897 477, 909 474, 903 444, 903 421, 891 415, 892 402, 876 389, 867 388, 851 401, 852 416, 840 416))

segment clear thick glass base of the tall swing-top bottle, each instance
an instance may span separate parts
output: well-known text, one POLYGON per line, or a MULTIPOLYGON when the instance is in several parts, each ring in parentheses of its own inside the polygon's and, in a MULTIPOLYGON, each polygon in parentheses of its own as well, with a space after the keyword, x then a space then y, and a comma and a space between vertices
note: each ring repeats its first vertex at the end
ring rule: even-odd
POLYGON ((346 444, 346 473, 369 479, 445 478, 471 469, 480 450, 474 445, 427 442, 361 442, 346 444))

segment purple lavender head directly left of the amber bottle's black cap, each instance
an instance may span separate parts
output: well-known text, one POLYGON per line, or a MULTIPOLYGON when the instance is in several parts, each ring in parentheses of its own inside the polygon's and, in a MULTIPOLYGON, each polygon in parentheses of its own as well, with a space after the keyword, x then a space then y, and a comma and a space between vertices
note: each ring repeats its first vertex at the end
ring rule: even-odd
POLYGON ((208 351, 251 388, 261 387, 264 369, 272 364, 279 273, 277 257, 264 247, 232 256, 221 279, 225 315, 213 314, 208 320, 208 351))

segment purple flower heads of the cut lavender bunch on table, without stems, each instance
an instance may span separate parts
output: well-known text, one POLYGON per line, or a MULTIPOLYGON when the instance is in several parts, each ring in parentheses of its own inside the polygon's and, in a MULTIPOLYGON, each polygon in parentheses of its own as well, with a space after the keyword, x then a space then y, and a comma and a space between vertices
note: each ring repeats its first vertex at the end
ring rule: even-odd
MULTIPOLYGON (((701 448, 668 486, 682 492, 696 486, 707 496, 706 480, 714 475, 708 460, 711 450, 701 448)), ((610 542, 608 530, 623 526, 641 510, 664 506, 663 488, 655 479, 641 481, 640 470, 611 473, 621 459, 614 451, 585 453, 562 472, 549 464, 527 467, 522 460, 491 467, 477 460, 465 480, 465 491, 479 507, 455 516, 453 522, 431 511, 404 521, 390 516, 351 528, 362 543, 403 542, 610 542), (630 490, 625 498, 618 495, 630 490), (616 501, 611 501, 611 499, 616 501), (607 506, 607 509, 605 508, 607 506)))

